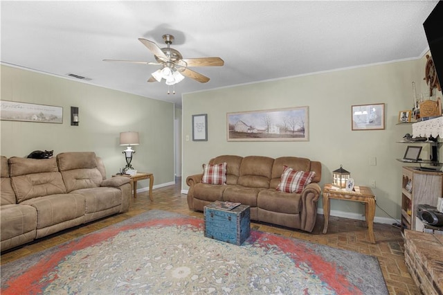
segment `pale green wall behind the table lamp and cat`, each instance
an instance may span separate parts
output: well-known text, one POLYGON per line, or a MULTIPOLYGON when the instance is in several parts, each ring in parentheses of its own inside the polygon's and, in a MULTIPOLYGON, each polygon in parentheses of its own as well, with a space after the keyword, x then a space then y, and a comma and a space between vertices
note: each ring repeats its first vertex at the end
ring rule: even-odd
MULTIPOLYGON (((1 66, 1 100, 63 107, 63 124, 2 120, 1 154, 26 157, 33 150, 91 151, 102 157, 107 177, 126 165, 120 132, 137 131, 132 166, 154 173, 154 186, 174 181, 174 104, 69 79, 1 66), (71 126, 71 106, 80 124, 71 126)), ((138 188, 149 186, 139 181, 138 188)))

